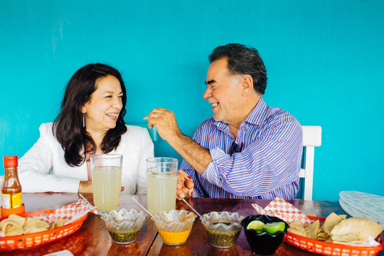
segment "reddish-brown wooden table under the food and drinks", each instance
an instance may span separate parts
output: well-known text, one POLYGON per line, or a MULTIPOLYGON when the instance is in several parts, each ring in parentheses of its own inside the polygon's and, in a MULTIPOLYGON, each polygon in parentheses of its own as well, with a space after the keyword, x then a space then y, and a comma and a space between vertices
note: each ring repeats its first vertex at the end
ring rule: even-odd
MULTIPOLYGON (((85 197, 92 203, 92 194, 85 197)), ((73 203, 79 198, 77 193, 23 193, 26 211, 60 208, 73 203)), ((146 197, 137 196, 140 203, 146 206, 146 197)), ((189 201, 201 214, 210 211, 237 211, 241 215, 256 214, 251 203, 265 207, 270 203, 266 200, 235 200, 193 198, 189 201)), ((346 214, 337 201, 289 201, 307 215, 323 216, 335 212, 346 214)), ((130 196, 122 195, 120 208, 135 208, 141 210, 130 196)), ((182 201, 176 208, 190 210, 182 201)), ((32 247, 31 249, 0 251, 0 255, 44 255, 59 250, 70 250, 73 255, 252 255, 244 231, 240 233, 238 242, 230 249, 217 249, 210 245, 206 231, 199 218, 196 218, 191 234, 184 245, 165 245, 156 231, 156 226, 150 218, 146 218, 137 241, 130 245, 117 245, 112 242, 99 216, 89 213, 82 227, 66 238, 32 247)), ((314 255, 283 242, 275 255, 314 255)), ((384 255, 383 252, 380 255, 384 255)))

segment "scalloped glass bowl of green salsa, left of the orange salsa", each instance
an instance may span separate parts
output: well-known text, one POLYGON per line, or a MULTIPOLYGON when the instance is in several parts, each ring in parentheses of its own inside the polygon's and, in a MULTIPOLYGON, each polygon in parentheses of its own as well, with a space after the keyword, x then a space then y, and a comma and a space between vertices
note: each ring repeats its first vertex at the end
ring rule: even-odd
POLYGON ((102 220, 110 233, 113 242, 127 245, 136 241, 137 234, 142 229, 146 213, 137 210, 110 210, 102 215, 102 220))

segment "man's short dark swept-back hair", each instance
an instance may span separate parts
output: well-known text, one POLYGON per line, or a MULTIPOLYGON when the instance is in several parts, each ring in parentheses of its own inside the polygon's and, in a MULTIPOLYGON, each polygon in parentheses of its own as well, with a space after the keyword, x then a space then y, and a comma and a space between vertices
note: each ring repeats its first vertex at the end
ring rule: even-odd
POLYGON ((228 43, 216 47, 208 57, 210 63, 220 58, 228 58, 228 70, 232 75, 250 75, 256 92, 264 95, 267 87, 267 70, 255 48, 247 48, 240 43, 228 43))

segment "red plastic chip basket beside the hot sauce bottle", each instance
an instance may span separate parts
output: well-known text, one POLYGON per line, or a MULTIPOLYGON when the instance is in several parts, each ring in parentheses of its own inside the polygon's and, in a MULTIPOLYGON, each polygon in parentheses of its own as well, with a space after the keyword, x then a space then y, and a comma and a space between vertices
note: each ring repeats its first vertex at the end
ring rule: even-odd
MULTIPOLYGON (((50 213, 53 213, 54 211, 55 210, 37 210, 18 215, 22 217, 38 217, 42 220, 46 220, 47 216, 50 213)), ((78 220, 75 220, 73 223, 63 225, 63 227, 60 228, 54 228, 52 230, 46 230, 43 232, 28 235, 15 235, 0 238, 0 250, 16 250, 21 248, 27 248, 36 245, 43 245, 46 242, 52 242, 60 238, 65 238, 66 236, 75 233, 75 231, 81 227, 82 223, 86 218, 87 214, 85 214, 78 220)))

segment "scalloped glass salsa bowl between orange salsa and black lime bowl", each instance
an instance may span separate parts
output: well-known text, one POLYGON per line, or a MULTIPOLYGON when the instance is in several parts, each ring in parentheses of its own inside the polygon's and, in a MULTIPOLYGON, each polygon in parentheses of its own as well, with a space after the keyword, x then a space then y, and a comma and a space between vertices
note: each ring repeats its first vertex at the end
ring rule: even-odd
POLYGON ((211 245, 228 248, 235 245, 238 240, 242 228, 240 222, 243 218, 238 213, 213 211, 204 214, 201 223, 206 228, 211 245))

